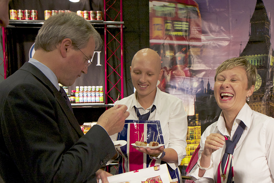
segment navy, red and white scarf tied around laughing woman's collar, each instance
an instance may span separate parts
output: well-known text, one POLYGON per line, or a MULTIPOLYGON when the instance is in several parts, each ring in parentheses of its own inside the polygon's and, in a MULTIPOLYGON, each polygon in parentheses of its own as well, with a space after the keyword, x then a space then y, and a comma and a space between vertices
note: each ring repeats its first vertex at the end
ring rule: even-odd
POLYGON ((217 183, 234 183, 234 173, 233 173, 233 153, 236 144, 239 142, 243 131, 245 130, 245 124, 241 121, 237 127, 233 139, 228 140, 225 136, 225 153, 218 166, 218 176, 217 183))

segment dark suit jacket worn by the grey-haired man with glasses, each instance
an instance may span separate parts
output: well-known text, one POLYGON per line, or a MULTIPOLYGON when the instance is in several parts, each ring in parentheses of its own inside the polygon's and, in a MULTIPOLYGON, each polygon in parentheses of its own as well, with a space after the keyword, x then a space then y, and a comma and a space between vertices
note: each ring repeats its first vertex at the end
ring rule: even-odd
POLYGON ((25 63, 0 83, 0 173, 8 182, 96 182, 115 155, 107 132, 86 135, 49 79, 25 63))

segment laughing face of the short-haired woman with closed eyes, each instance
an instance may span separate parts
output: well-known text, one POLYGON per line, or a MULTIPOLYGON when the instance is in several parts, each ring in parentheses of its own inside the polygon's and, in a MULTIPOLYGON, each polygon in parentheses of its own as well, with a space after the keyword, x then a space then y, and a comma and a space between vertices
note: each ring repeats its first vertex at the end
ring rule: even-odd
POLYGON ((247 89, 245 69, 234 67, 220 72, 214 84, 214 96, 224 113, 237 115, 245 105, 246 97, 251 96, 254 85, 247 89))

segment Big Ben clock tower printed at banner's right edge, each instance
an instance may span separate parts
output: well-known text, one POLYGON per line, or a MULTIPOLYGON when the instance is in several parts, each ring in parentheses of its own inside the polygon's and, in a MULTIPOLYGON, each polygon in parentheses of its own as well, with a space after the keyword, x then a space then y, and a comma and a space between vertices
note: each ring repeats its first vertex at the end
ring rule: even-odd
POLYGON ((257 0, 255 11, 250 19, 249 41, 240 56, 255 65, 258 71, 249 106, 252 110, 273 117, 271 114, 274 114, 274 110, 272 112, 270 106, 272 105, 274 60, 269 32, 270 21, 265 6, 262 0, 257 0))

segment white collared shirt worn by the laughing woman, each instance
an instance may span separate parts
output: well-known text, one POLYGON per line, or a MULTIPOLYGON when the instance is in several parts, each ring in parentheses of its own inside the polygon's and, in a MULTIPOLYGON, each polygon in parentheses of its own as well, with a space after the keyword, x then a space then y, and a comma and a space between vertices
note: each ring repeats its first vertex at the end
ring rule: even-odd
MULTIPOLYGON (((235 183, 274 182, 274 119, 251 110, 245 104, 233 123, 229 135, 223 118, 223 112, 217 122, 206 128, 201 136, 199 157, 204 149, 206 137, 211 133, 226 135, 231 140, 239 123, 243 121, 245 130, 236 145, 233 154, 233 171, 235 183)), ((217 169, 225 151, 225 145, 211 154, 213 168, 206 170, 204 176, 198 176, 199 167, 196 164, 188 174, 197 182, 217 182, 217 169)), ((212 163, 212 162, 211 162, 212 163)))

